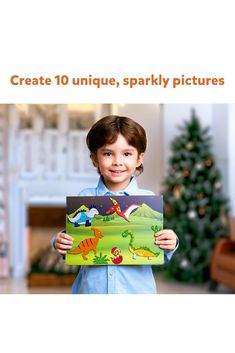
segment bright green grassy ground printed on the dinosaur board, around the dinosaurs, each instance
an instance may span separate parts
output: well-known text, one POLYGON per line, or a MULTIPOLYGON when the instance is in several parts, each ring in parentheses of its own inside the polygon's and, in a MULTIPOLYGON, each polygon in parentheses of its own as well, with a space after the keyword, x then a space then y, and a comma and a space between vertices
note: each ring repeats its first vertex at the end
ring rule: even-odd
MULTIPOLYGON (((74 228, 73 224, 67 224, 67 232, 70 234, 75 240, 73 244, 73 249, 76 249, 83 240, 89 238, 94 238, 94 231, 92 229, 97 228, 102 232, 103 237, 100 238, 97 242, 96 252, 102 252, 103 255, 106 255, 107 259, 110 259, 112 256, 111 249, 115 246, 121 249, 121 253, 123 256, 122 264, 135 264, 137 261, 137 256, 133 256, 133 253, 130 252, 130 237, 123 237, 122 233, 125 230, 128 230, 133 238, 132 244, 134 248, 148 247, 152 250, 153 253, 159 252, 158 258, 148 258, 144 256, 138 256, 138 263, 140 264, 162 264, 163 263, 163 251, 154 244, 154 231, 152 227, 157 227, 158 230, 162 229, 162 221, 158 220, 153 222, 153 219, 148 218, 138 218, 133 217, 131 222, 127 224, 127 222, 123 219, 120 220, 110 220, 109 222, 104 222, 103 220, 96 219, 93 221, 91 227, 80 226, 79 233, 77 234, 77 228, 74 228)), ((140 252, 140 251, 139 251, 140 252)), ((69 255, 66 256, 66 263, 70 265, 75 264, 94 264, 95 253, 93 250, 89 251, 87 258, 88 260, 84 261, 81 254, 78 255, 69 255)), ((151 257, 151 256, 150 256, 151 257)), ((111 261, 109 261, 111 262, 111 261)), ((96 262, 98 264, 98 262, 96 262)), ((103 264, 103 263, 99 263, 103 264)), ((112 262, 110 263, 112 264, 112 262)))

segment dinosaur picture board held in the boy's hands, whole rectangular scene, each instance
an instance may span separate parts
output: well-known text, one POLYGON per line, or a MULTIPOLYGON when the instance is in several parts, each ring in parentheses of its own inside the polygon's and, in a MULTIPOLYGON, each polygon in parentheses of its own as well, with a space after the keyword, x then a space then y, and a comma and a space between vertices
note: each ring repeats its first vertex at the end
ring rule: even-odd
POLYGON ((67 265, 161 265, 154 244, 163 229, 162 196, 68 196, 66 233, 74 238, 67 265))

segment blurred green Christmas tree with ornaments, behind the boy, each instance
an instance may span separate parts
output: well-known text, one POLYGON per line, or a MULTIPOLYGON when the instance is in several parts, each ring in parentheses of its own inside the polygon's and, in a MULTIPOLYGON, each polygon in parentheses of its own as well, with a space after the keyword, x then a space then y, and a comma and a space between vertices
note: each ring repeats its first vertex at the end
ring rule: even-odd
POLYGON ((211 151, 209 128, 202 128, 192 111, 191 119, 179 129, 164 183, 164 228, 173 229, 179 238, 167 271, 179 280, 199 283, 209 279, 216 240, 227 235, 228 203, 211 151))

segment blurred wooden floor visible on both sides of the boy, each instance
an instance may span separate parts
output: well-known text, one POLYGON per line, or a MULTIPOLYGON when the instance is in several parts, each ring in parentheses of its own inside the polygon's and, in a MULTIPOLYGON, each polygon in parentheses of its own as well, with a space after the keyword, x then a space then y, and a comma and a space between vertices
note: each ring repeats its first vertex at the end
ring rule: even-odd
MULTIPOLYGON (((157 288, 159 294, 211 294, 209 291, 209 283, 192 285, 174 280, 169 281, 166 280, 161 273, 157 274, 157 288)), ((70 292, 70 286, 28 288, 26 279, 0 279, 0 294, 70 294, 70 292)), ((220 285, 216 293, 233 294, 234 292, 220 285)))

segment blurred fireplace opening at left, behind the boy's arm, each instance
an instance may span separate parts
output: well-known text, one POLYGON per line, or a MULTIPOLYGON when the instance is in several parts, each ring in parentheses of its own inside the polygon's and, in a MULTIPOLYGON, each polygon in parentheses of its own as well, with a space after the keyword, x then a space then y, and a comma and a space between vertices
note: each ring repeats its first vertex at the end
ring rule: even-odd
POLYGON ((77 266, 66 266, 51 246, 52 235, 65 228, 64 207, 28 208, 28 286, 71 285, 77 266))

